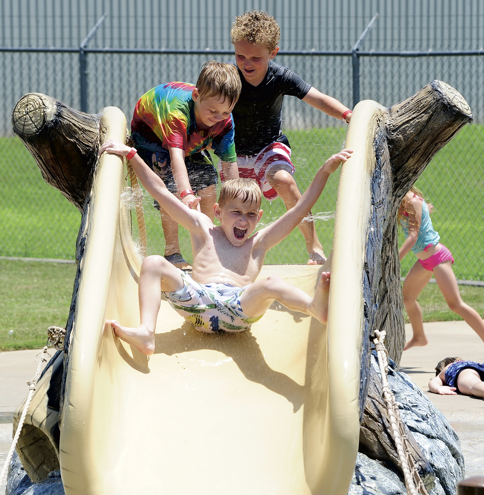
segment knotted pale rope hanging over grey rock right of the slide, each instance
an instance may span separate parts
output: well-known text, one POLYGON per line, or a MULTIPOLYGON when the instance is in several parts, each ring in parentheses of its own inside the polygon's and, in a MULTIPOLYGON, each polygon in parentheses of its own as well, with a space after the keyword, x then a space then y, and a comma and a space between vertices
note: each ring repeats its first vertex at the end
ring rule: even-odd
POLYGON ((383 330, 379 332, 375 330, 374 344, 378 354, 378 363, 380 365, 380 372, 382 375, 382 390, 387 406, 388 416, 390 418, 391 426, 391 436, 396 446, 398 460, 400 462, 400 467, 403 471, 403 476, 405 478, 405 487, 407 488, 408 495, 428 495, 427 490, 420 478, 418 473, 415 459, 410 452, 408 446, 408 440, 403 430, 402 420, 400 417, 400 411, 395 401, 395 396, 391 391, 388 380, 388 359, 387 359, 387 348, 385 347, 384 341, 386 332, 383 330))

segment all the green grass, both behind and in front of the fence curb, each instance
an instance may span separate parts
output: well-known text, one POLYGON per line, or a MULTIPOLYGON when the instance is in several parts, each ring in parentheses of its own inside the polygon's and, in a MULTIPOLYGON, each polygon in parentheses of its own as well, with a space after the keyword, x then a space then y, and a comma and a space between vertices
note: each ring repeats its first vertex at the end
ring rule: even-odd
MULTIPOLYGON (((296 167, 294 178, 305 190, 315 171, 342 148, 344 128, 287 132, 296 167)), ((457 278, 484 280, 484 125, 468 125, 429 164, 417 185, 436 207, 432 214, 441 241, 454 254, 457 278)), ((313 214, 327 254, 333 242, 339 172, 330 178, 313 214)), ((262 225, 285 211, 280 199, 263 200, 262 225)), ((162 253, 159 213, 145 195, 148 254, 162 253)), ((68 258, 75 256, 80 213, 44 182, 34 159, 18 138, 0 137, 0 256, 68 258)), ((403 241, 403 239, 400 239, 403 241)), ((188 233, 180 228, 181 250, 192 260, 188 233)), ((402 275, 415 262, 409 254, 402 275)), ((266 256, 266 263, 305 263, 307 253, 296 229, 266 256)), ((0 260, 0 350, 42 347, 50 325, 64 326, 69 310, 75 265, 0 260), (9 332, 13 330, 12 335, 9 332)), ((484 315, 484 288, 460 286, 463 299, 484 315)), ((420 302, 425 321, 460 319, 450 312, 436 284, 429 284, 420 302)))

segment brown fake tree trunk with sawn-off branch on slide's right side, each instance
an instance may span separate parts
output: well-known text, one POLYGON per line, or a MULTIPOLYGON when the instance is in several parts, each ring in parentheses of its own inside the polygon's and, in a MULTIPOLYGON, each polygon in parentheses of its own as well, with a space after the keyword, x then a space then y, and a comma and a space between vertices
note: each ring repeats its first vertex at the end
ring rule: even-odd
MULTIPOLYGON (((405 345, 405 324, 396 213, 401 199, 436 152, 471 121, 472 113, 465 99, 449 85, 432 81, 413 97, 392 106, 387 121, 382 123, 375 135, 377 163, 385 176, 385 181, 380 183, 379 193, 386 197, 386 207, 381 213, 384 217, 381 269, 378 309, 373 328, 387 332, 388 354, 397 365, 405 345), (382 184, 387 192, 382 192, 382 184)), ((373 199, 375 201, 379 198, 373 199)), ((368 373, 368 395, 360 430, 359 450, 371 458, 391 462, 400 470, 396 448, 389 433, 389 419, 380 377, 371 365, 368 373)), ((432 469, 408 428, 405 429, 424 484, 430 486, 434 479, 432 469)))

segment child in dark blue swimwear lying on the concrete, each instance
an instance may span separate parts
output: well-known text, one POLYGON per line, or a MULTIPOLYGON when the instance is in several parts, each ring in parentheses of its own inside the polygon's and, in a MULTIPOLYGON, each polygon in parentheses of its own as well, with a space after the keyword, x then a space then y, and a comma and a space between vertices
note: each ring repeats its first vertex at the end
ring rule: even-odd
POLYGON ((484 363, 446 357, 436 366, 436 377, 429 382, 434 394, 484 397, 484 363))

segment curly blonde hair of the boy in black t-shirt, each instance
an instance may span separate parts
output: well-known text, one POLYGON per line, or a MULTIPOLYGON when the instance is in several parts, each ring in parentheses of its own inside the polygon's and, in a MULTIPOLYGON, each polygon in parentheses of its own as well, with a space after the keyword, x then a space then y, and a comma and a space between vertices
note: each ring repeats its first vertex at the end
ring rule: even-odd
POLYGON ((261 43, 272 53, 279 45, 281 29, 274 17, 262 10, 244 12, 235 18, 230 31, 232 43, 246 40, 249 43, 261 43))

